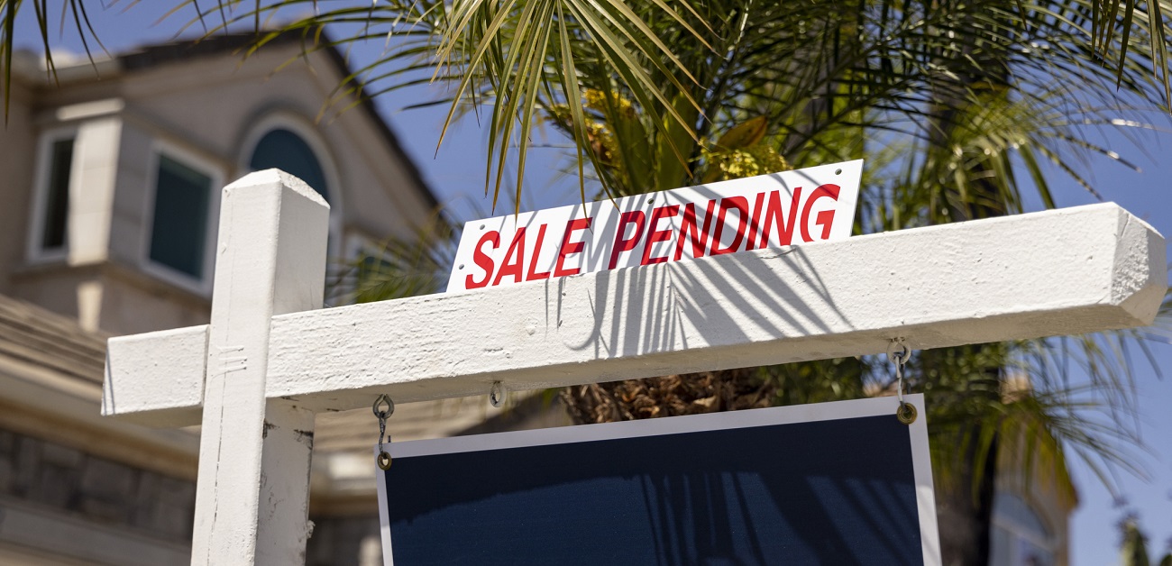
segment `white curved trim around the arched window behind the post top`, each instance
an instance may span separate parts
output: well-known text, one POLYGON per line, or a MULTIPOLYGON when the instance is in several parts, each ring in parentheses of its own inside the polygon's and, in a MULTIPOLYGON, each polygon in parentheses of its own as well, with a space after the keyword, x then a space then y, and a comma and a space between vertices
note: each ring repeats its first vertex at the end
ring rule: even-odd
POLYGON ((329 192, 329 250, 327 250, 327 254, 333 259, 341 255, 345 251, 345 245, 341 241, 343 236, 342 206, 345 198, 342 195, 342 179, 338 173, 338 168, 334 165, 334 155, 329 152, 329 146, 312 124, 313 122, 289 110, 273 110, 264 115, 246 130, 247 134, 244 136, 244 143, 240 145, 240 151, 238 152, 239 162, 237 163, 237 168, 241 177, 253 171, 251 164, 252 151, 257 148, 260 138, 273 130, 289 130, 309 145, 314 157, 318 158, 318 164, 321 165, 321 170, 326 175, 326 183, 329 184, 327 187, 329 192))

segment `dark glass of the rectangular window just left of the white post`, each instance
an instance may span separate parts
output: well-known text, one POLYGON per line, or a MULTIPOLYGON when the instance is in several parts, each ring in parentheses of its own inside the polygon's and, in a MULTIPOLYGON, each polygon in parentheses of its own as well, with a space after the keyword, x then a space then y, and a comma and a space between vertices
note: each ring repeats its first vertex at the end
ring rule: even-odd
POLYGON ((204 274, 212 180, 165 155, 158 158, 150 259, 196 279, 204 274))

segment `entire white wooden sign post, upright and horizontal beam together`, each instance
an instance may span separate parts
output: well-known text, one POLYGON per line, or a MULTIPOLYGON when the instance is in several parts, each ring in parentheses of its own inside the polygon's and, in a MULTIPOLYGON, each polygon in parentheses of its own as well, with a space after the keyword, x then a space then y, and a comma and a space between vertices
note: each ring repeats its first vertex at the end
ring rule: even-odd
POLYGON ((328 206, 225 187, 212 319, 111 339, 104 415, 203 424, 192 564, 304 561, 313 415, 1146 326, 1164 238, 1113 204, 321 306, 328 206))

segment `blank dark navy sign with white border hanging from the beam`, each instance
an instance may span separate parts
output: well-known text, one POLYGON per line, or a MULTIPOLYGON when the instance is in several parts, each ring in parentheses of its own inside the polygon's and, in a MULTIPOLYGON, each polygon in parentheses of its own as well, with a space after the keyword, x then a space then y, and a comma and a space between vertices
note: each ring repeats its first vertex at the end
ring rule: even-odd
POLYGON ((390 444, 386 564, 938 566, 922 396, 390 444))

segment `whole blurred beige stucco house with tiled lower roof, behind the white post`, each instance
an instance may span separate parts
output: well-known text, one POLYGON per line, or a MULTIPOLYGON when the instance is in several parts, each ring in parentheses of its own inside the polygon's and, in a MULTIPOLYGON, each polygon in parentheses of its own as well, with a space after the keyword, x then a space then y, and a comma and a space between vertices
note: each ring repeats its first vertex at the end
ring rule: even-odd
MULTIPOLYGON (((251 40, 57 61, 56 77, 32 54, 14 60, 0 130, 0 564, 188 562, 198 429, 98 408, 108 336, 207 322, 223 185, 268 168, 301 177, 331 205, 334 264, 436 207, 370 103, 329 110, 349 74, 339 52, 302 55, 291 35, 244 59, 251 40)), ((458 434, 496 412, 403 405, 390 432, 458 434)), ((309 564, 381 564, 376 437, 369 411, 319 418, 309 564)))

